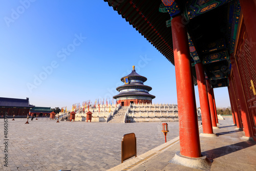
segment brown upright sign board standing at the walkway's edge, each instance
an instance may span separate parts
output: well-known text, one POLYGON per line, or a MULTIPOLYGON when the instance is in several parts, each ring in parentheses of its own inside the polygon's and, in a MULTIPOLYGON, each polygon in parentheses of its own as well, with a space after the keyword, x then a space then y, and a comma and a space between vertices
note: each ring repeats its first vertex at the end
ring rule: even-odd
POLYGON ((121 162, 123 163, 124 160, 130 159, 133 156, 137 157, 135 134, 125 134, 122 139, 121 162))

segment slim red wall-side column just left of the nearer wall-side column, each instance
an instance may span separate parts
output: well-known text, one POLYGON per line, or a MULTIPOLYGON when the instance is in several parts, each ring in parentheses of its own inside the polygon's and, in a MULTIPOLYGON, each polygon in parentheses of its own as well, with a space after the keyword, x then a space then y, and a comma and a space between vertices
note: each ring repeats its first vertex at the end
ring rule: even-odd
POLYGON ((232 103, 234 107, 234 116, 236 116, 237 127, 243 129, 242 120, 241 120, 241 116, 239 114, 239 109, 238 109, 238 101, 237 101, 236 93, 234 92, 234 88, 233 88, 233 81, 230 77, 228 79, 229 79, 229 86, 230 86, 230 94, 231 94, 232 103))

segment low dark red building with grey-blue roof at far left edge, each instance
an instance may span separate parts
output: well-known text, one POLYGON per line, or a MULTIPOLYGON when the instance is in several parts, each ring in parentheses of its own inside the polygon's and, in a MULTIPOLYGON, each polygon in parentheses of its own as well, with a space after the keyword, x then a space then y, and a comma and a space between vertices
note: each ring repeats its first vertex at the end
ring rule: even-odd
POLYGON ((29 98, 15 99, 0 97, 0 113, 2 116, 5 112, 8 113, 8 116, 27 116, 31 108, 34 108, 34 105, 29 104, 29 98))

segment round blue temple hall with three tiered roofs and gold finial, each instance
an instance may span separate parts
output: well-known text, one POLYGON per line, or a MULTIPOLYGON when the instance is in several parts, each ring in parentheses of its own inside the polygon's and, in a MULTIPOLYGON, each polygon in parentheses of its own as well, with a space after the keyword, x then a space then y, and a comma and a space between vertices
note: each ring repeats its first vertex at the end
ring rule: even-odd
POLYGON ((121 78, 124 85, 116 88, 119 94, 113 98, 116 99, 117 104, 128 106, 130 103, 152 103, 152 99, 156 96, 148 93, 152 88, 144 85, 146 80, 146 77, 136 73, 133 66, 132 73, 121 78))

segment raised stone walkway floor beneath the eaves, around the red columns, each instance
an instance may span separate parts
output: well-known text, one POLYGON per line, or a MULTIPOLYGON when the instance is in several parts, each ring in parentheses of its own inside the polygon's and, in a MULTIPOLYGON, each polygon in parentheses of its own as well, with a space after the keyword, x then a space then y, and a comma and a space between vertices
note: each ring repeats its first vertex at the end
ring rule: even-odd
MULTIPOLYGON (((214 130, 218 137, 200 137, 201 152, 211 162, 211 171, 240 171, 256 170, 256 142, 241 139, 243 131, 234 130, 232 118, 219 120, 220 129, 214 130)), ((200 133, 202 129, 200 129, 200 133)), ((137 167, 128 170, 134 171, 166 171, 166 170, 187 170, 200 171, 196 168, 185 167, 168 163, 177 151, 180 151, 180 144, 176 143, 166 151, 156 155, 137 167)))

